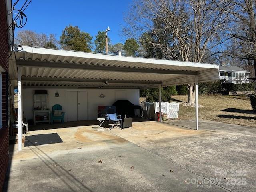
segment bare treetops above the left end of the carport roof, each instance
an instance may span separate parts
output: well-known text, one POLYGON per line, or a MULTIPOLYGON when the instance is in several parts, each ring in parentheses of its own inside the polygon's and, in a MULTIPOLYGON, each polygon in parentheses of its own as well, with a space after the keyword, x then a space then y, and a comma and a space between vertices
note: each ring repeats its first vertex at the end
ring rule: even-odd
POLYGON ((57 40, 54 34, 49 36, 44 33, 36 33, 31 30, 19 31, 16 38, 16 44, 45 47, 46 44, 53 44, 56 46, 57 40))

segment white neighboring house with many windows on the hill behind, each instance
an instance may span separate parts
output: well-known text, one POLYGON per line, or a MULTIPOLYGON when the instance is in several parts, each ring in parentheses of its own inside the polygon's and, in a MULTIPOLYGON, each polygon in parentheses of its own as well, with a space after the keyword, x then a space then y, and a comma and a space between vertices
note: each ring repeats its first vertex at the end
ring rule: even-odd
POLYGON ((220 79, 228 83, 249 83, 248 71, 241 69, 237 66, 219 66, 220 79))

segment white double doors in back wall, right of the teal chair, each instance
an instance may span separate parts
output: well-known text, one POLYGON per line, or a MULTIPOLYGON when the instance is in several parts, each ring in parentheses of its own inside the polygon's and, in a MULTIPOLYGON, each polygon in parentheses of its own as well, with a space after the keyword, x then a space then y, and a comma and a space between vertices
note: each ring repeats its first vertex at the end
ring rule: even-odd
POLYGON ((67 91, 67 121, 87 120, 87 92, 67 91))

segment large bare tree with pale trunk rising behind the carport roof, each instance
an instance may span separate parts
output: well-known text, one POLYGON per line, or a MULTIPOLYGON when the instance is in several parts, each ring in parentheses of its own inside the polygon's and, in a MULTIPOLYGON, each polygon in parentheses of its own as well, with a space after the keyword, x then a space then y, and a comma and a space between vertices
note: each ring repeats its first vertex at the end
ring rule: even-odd
MULTIPOLYGON (((126 35, 150 32, 140 41, 160 49, 163 58, 205 62, 219 54, 228 16, 228 0, 137 0, 126 16, 126 35)), ((195 102, 195 85, 187 85, 188 103, 195 102)))

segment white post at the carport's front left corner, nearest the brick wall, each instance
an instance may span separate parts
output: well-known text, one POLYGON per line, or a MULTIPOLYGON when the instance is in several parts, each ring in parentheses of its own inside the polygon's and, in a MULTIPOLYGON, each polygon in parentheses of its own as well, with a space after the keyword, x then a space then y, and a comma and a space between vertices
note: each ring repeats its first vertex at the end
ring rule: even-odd
POLYGON ((22 67, 18 67, 18 150, 22 150, 22 67))

